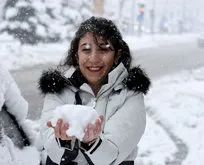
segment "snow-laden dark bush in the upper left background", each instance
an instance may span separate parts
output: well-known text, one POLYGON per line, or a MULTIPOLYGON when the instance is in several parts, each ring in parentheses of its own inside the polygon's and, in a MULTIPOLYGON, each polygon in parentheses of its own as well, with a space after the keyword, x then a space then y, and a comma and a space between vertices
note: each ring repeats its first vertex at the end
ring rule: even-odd
POLYGON ((71 39, 79 23, 92 15, 87 0, 6 0, 2 13, 0 33, 22 44, 71 39))

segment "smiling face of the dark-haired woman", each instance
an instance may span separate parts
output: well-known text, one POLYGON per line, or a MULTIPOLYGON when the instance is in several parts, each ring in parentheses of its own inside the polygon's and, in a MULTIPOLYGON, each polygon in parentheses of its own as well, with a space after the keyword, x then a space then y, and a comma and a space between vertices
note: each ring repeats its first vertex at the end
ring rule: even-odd
POLYGON ((113 46, 99 36, 86 33, 79 42, 79 68, 92 87, 101 87, 115 62, 113 46))

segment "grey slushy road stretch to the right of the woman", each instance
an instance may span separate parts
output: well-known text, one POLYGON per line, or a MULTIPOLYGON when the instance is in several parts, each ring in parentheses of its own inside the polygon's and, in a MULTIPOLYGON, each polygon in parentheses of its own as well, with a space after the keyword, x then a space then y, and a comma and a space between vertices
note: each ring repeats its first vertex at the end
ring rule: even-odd
POLYGON ((134 64, 141 64, 152 78, 175 73, 183 69, 204 66, 204 49, 196 42, 170 45, 135 52, 134 64))

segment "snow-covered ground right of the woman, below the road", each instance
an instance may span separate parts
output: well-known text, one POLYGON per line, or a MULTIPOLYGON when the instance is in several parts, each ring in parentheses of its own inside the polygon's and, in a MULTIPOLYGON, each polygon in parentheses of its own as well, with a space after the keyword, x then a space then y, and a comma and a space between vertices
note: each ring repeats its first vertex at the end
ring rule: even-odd
POLYGON ((153 81, 145 98, 147 129, 139 146, 144 165, 165 165, 182 157, 182 165, 202 165, 204 162, 204 68, 182 71, 153 81), (158 123, 161 127, 158 128, 158 123), (167 136, 171 132, 175 137, 167 136), (174 141, 174 142, 173 142, 174 141), (181 143, 184 145, 182 146, 181 143), (175 156, 174 154, 178 154, 175 156), (179 155, 180 154, 180 155, 179 155), (184 155, 185 156, 185 155, 184 155), (177 158, 176 158, 177 157, 177 158))

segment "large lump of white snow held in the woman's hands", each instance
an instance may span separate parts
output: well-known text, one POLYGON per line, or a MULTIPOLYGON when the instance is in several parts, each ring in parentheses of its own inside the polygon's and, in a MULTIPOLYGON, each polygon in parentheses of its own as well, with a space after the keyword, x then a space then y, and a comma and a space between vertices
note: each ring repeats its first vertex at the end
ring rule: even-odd
POLYGON ((92 107, 66 104, 56 108, 51 123, 56 126, 57 120, 60 118, 67 121, 69 124, 67 135, 82 140, 85 135, 84 129, 88 123, 94 124, 98 117, 99 115, 92 107))

